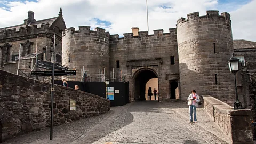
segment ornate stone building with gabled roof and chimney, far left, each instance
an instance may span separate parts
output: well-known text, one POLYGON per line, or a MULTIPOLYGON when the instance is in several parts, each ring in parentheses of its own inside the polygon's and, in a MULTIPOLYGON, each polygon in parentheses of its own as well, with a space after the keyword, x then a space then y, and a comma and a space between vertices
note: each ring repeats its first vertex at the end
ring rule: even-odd
POLYGON ((65 29, 61 9, 58 17, 44 20, 35 20, 34 12, 28 11, 28 18, 22 24, 0 28, 0 69, 29 76, 30 71, 38 70, 35 66, 36 57, 51 61, 54 34, 55 58, 61 63, 62 31, 65 29))

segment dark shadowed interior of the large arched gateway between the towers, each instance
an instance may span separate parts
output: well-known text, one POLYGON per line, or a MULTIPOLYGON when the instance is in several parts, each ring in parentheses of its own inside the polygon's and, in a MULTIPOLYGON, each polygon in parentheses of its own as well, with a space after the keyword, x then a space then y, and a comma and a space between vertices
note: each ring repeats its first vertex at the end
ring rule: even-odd
POLYGON ((134 77, 134 100, 141 101, 146 100, 145 91, 146 84, 149 79, 158 78, 157 74, 151 69, 143 69, 138 71, 134 77))

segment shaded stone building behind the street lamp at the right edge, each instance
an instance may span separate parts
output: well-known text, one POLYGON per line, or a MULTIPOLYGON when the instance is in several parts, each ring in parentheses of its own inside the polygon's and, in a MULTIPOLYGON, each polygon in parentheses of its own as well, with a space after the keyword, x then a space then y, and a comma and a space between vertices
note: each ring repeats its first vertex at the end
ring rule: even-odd
POLYGON ((244 107, 252 110, 256 121, 256 42, 235 40, 233 45, 235 55, 241 62, 237 75, 239 99, 244 102, 244 107))

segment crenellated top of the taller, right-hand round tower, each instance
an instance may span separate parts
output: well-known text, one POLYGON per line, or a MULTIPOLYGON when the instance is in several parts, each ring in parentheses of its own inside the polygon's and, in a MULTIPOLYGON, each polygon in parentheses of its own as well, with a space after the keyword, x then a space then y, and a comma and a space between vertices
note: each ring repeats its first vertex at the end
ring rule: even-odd
POLYGON ((188 22, 188 21, 218 21, 218 23, 225 23, 228 26, 230 26, 231 20, 230 20, 230 14, 227 12, 221 13, 219 15, 219 11, 213 11, 209 10, 206 11, 206 15, 199 15, 199 12, 193 12, 187 14, 186 18, 179 18, 177 20, 177 25, 182 25, 182 23, 188 22))

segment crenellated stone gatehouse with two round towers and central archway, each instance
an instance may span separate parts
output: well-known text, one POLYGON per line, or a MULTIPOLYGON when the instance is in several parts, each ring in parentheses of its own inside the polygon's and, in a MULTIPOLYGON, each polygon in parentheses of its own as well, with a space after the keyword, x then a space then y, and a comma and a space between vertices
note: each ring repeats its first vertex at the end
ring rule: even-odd
MULTIPOLYGON (((62 62, 78 71, 85 68, 91 74, 105 69, 109 78, 113 78, 113 71, 116 77, 130 82, 131 101, 145 100, 147 82, 158 78, 162 100, 177 97, 186 100, 191 90, 196 89, 198 94, 209 94, 233 105, 235 82, 228 60, 235 52, 253 62, 255 55, 250 55, 250 51, 254 49, 243 49, 243 53, 239 53, 240 49, 234 51, 227 12, 219 15, 219 11, 206 11, 203 16, 195 12, 187 17, 180 18, 177 27, 167 33, 160 29, 154 30, 153 35, 139 31, 138 27, 124 37, 110 35, 101 28, 93 31, 90 26, 79 26, 79 30, 68 28, 63 32, 62 62)), ((240 45, 240 48, 250 47, 240 45)), ((243 65, 247 67, 246 63, 243 65)), ((255 70, 255 66, 250 69, 255 70)), ((241 101, 250 102, 244 97, 241 101)))

